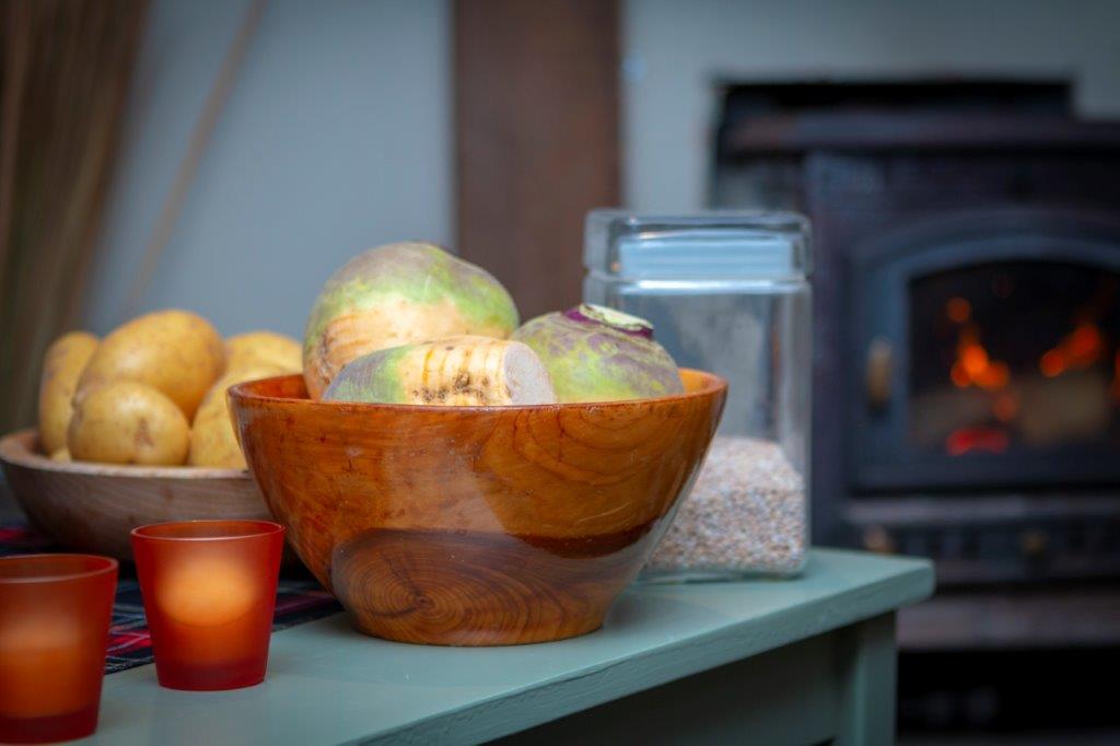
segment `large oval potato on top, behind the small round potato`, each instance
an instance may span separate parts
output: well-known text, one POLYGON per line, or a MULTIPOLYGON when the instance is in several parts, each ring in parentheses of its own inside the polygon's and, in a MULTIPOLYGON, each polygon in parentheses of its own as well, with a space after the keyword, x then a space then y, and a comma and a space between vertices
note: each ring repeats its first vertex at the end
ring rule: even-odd
POLYGON ((136 381, 165 394, 189 420, 224 370, 225 346, 206 319, 184 310, 156 311, 119 326, 102 341, 78 380, 74 401, 111 381, 136 381))

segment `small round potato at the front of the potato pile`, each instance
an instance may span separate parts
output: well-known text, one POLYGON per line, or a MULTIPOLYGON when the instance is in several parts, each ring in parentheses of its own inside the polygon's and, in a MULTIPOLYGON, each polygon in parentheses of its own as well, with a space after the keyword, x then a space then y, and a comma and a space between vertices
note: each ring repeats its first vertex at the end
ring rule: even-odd
POLYGON ((75 460, 175 466, 187 458, 190 427, 152 386, 113 381, 75 404, 66 444, 75 460))

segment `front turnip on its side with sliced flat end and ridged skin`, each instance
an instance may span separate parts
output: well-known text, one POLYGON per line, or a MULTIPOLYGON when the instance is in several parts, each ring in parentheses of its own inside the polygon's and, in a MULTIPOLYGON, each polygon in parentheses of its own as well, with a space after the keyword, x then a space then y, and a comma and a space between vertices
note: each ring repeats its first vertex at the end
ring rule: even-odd
POLYGON ((323 400, 469 407, 551 404, 557 398, 532 349, 466 335, 358 357, 335 376, 323 400))

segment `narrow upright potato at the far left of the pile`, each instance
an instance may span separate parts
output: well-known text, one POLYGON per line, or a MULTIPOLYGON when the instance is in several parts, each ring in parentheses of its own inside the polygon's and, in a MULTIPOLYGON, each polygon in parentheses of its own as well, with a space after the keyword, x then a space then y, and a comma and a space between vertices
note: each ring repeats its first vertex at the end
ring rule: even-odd
POLYGON ((88 332, 69 332, 47 347, 43 358, 43 377, 39 379, 39 445, 43 453, 54 454, 66 445, 74 390, 96 348, 97 337, 88 332))

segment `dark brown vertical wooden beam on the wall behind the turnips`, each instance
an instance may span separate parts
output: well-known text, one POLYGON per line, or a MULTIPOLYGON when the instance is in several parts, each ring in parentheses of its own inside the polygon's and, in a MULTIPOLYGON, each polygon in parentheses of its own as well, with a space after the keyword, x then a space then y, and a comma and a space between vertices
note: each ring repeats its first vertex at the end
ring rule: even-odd
POLYGON ((619 202, 618 4, 454 4, 457 248, 525 319, 579 301, 584 217, 619 202))

